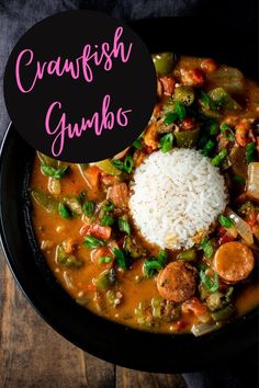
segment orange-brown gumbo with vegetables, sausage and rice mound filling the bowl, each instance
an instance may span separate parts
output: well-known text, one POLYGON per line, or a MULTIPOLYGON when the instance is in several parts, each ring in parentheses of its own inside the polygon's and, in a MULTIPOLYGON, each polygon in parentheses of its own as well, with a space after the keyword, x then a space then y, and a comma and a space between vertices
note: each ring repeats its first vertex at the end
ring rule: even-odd
POLYGON ((259 90, 212 59, 154 55, 146 130, 111 160, 37 153, 33 224, 80 305, 200 335, 259 305, 259 90))

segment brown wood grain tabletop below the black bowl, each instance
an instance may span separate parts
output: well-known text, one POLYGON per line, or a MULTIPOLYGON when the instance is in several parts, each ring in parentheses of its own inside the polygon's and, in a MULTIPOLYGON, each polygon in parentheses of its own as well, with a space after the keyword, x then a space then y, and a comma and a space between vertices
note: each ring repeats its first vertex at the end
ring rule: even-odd
POLYGON ((185 388, 180 375, 122 368, 56 333, 15 284, 0 251, 0 388, 185 388))

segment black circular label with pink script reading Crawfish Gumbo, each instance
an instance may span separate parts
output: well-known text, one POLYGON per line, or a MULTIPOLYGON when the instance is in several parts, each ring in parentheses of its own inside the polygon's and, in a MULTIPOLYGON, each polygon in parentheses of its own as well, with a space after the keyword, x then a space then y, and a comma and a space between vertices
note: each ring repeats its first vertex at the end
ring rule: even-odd
POLYGON ((4 98, 32 147, 67 162, 98 161, 144 130, 156 72, 147 47, 123 22, 69 11, 41 21, 18 42, 4 98))

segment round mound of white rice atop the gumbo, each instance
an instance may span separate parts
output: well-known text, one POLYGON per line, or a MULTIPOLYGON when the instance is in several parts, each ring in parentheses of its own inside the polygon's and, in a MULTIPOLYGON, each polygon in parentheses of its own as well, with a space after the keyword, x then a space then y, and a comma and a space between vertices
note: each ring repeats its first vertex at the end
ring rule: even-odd
POLYGON ((227 203, 218 168, 193 149, 153 152, 136 169, 131 190, 136 227, 164 249, 200 242, 227 203))

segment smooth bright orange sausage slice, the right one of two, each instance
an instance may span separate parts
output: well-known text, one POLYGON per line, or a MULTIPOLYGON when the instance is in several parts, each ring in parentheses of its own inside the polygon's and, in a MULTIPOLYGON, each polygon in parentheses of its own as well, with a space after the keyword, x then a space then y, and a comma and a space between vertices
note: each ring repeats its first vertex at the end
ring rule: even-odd
POLYGON ((214 270, 225 283, 236 283, 247 278, 254 266, 254 254, 243 242, 226 242, 218 248, 213 260, 214 270))

